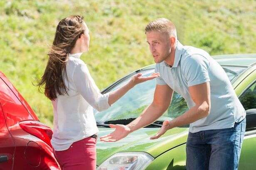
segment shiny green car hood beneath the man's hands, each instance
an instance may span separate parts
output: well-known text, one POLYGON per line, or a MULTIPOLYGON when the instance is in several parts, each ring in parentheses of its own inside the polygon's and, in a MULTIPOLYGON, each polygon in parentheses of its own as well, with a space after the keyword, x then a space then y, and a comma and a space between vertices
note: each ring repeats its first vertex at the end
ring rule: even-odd
MULTIPOLYGON (((111 133, 111 128, 99 128, 99 137, 111 133)), ((171 148, 186 143, 188 128, 173 128, 158 139, 150 140, 159 128, 142 128, 117 142, 97 140, 97 165, 117 152, 147 152, 154 158, 171 148)))

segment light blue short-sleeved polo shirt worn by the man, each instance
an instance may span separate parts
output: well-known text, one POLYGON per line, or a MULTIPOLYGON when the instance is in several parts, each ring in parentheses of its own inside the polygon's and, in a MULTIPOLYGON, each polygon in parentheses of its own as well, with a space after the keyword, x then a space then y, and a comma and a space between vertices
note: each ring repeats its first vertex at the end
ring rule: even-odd
POLYGON ((242 121, 246 111, 240 103, 224 69, 207 52, 177 42, 174 64, 156 64, 155 72, 160 73, 157 84, 167 84, 180 94, 189 108, 195 106, 189 95, 189 86, 210 82, 211 110, 209 116, 190 123, 191 133, 234 127, 242 121))

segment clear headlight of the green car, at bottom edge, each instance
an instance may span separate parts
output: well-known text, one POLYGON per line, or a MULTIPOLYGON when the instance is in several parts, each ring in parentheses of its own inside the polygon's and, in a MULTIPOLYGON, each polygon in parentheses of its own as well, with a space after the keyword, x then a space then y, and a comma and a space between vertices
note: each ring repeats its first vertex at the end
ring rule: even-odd
POLYGON ((97 170, 144 170, 153 160, 145 152, 120 152, 105 160, 97 170))

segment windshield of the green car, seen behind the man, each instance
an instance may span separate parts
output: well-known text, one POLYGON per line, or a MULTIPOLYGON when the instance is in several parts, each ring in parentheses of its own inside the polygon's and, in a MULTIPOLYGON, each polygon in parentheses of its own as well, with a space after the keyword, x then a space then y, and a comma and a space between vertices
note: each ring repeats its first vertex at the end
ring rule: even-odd
MULTIPOLYGON (((234 80, 245 67, 232 67, 232 66, 222 66, 229 77, 229 80, 234 80)), ((143 69, 140 71, 143 76, 149 76, 154 72, 153 69, 143 69)), ((117 86, 114 86, 110 91, 123 86, 130 80, 131 76, 127 76, 127 79, 121 81, 117 86)), ((113 121, 120 119, 137 118, 142 111, 149 106, 153 101, 154 89, 156 86, 156 81, 150 80, 137 84, 133 89, 127 92, 121 99, 108 108, 105 111, 98 112, 94 110, 96 121, 99 123, 104 123, 105 121, 113 121)), ((181 114, 183 114, 188 107, 186 101, 181 95, 174 92, 171 104, 167 111, 158 119, 158 121, 164 121, 166 119, 173 119, 181 114)))

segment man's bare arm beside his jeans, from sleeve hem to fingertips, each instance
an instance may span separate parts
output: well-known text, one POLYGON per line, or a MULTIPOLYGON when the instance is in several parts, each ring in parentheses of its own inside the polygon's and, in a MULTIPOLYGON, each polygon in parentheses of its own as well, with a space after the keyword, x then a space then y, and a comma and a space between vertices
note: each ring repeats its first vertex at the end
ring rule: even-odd
POLYGON ((206 82, 195 86, 190 86, 189 94, 196 105, 190 108, 181 116, 171 121, 164 121, 163 126, 160 128, 159 132, 155 136, 152 136, 151 139, 159 138, 171 128, 193 123, 209 115, 211 108, 210 83, 206 82))

